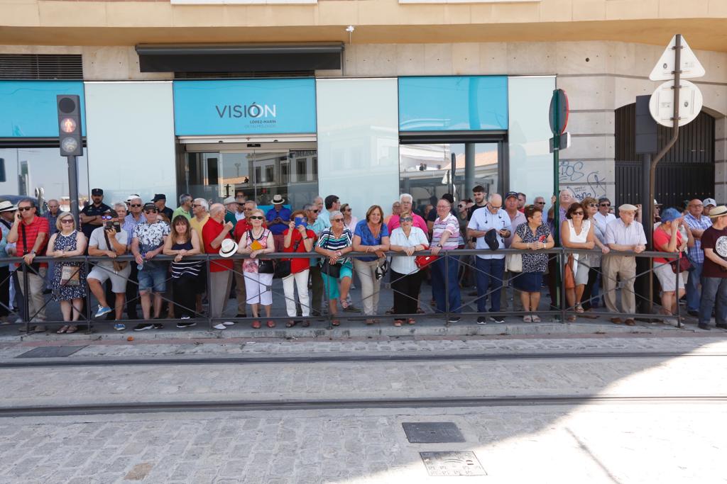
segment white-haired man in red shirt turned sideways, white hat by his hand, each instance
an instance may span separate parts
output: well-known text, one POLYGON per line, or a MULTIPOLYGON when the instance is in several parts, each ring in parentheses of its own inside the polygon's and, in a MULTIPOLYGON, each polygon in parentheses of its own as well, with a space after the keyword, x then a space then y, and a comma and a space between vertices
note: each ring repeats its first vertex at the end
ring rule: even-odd
MULTIPOLYGON (((202 227, 202 240, 204 252, 208 254, 218 253, 222 240, 230 239, 232 222, 225 223, 225 205, 215 203, 209 208, 209 220, 202 227)), ((212 258, 209 261, 209 288, 207 298, 209 299, 209 316, 221 318, 230 295, 232 278, 230 271, 233 268, 233 261, 225 258, 212 258)), ((214 329, 225 329, 235 324, 232 321, 224 321, 215 324, 214 329)))

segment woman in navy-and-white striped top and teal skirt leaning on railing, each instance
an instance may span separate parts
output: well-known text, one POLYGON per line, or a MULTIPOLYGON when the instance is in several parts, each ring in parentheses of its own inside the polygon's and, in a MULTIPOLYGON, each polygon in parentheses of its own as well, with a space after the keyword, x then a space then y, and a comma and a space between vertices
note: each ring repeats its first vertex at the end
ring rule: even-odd
POLYGON ((329 311, 334 316, 331 322, 334 326, 340 324, 340 321, 335 319, 338 313, 338 300, 339 298, 345 300, 348 296, 348 289, 351 287, 353 264, 349 258, 343 257, 351 250, 353 250, 353 236, 343 224, 343 214, 335 210, 331 213, 331 226, 321 232, 318 242, 316 242, 316 252, 325 256, 321 261, 321 276, 328 294, 329 311), (337 271, 339 274, 329 276, 329 273, 333 271, 337 271))

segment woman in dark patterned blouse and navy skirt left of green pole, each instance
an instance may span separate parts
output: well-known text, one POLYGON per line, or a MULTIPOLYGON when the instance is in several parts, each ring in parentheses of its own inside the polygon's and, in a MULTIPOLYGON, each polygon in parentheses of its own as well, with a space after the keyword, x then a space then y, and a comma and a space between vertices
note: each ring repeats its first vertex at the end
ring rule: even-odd
MULTIPOLYGON (((515 236, 510 247, 521 250, 552 249, 555 246, 550 227, 543 223, 542 209, 537 205, 528 205, 525 208, 526 223, 515 228, 515 236)), ((547 268, 548 255, 544 253, 523 253, 522 271, 513 279, 513 286, 520 291, 520 299, 524 311, 535 312, 540 303, 540 289, 542 287, 543 273, 547 268)), ((539 323, 537 314, 523 316, 526 323, 539 323)))

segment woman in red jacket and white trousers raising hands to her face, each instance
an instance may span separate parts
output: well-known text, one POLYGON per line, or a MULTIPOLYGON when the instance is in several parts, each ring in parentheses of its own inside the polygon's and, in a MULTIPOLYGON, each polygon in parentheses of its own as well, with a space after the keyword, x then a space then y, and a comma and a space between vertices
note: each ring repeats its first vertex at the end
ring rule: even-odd
MULTIPOLYGON (((288 228, 283 232, 283 237, 283 252, 308 253, 313 249, 313 240, 316 239, 316 233, 308 229, 308 218, 303 210, 297 210, 291 214, 288 228)), ((308 318, 310 316, 310 301, 308 299, 310 259, 294 257, 288 261, 281 260, 280 263, 286 265, 289 270, 289 274, 283 276, 285 309, 288 317, 294 318, 296 316, 295 287, 297 287, 301 314, 304 318, 308 318)), ((298 324, 298 321, 291 319, 285 326, 290 328, 296 324, 298 324)), ((310 321, 306 319, 302 321, 302 325, 309 327, 310 321)))

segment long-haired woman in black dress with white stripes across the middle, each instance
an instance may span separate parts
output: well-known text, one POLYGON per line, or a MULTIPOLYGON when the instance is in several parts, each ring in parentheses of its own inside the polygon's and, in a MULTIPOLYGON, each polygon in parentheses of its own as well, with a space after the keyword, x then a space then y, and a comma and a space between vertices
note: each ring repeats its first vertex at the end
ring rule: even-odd
POLYGON ((164 242, 164 255, 174 255, 172 262, 172 287, 174 292, 174 312, 181 321, 177 328, 194 326, 194 321, 189 321, 194 316, 194 311, 189 306, 195 300, 196 282, 203 261, 183 261, 187 255, 198 255, 200 253, 199 236, 192 230, 188 218, 178 215, 172 220, 172 233, 166 237, 164 242))

